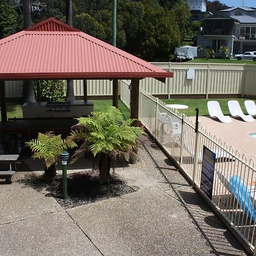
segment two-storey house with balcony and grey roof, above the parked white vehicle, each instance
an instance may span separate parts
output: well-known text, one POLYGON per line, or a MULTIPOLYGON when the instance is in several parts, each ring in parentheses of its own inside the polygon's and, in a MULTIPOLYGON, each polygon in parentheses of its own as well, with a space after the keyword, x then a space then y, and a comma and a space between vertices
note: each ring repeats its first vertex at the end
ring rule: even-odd
POLYGON ((219 52, 228 46, 230 53, 256 51, 256 9, 233 7, 200 20, 203 22, 197 45, 219 52))

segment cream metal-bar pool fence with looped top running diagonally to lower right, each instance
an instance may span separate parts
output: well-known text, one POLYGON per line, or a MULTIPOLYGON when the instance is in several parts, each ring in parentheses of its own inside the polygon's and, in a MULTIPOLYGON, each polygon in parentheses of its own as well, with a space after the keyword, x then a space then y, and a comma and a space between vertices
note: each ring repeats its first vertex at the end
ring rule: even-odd
POLYGON ((195 188, 217 211, 222 220, 255 254, 254 161, 158 98, 141 90, 139 120, 158 141, 195 188), (200 188, 203 146, 216 154, 212 199, 200 188))

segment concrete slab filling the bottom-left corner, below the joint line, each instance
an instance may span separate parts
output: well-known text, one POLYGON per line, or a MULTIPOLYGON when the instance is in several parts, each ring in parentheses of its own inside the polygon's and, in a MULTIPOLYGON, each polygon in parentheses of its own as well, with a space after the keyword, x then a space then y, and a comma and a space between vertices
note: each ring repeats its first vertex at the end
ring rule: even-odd
POLYGON ((0 225, 0 255, 101 255, 65 211, 0 225))

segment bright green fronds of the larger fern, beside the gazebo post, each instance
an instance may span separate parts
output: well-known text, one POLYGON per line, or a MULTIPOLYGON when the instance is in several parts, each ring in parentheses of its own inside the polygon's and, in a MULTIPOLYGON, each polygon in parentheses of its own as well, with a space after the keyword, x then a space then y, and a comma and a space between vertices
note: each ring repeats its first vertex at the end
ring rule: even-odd
POLYGON ((144 134, 140 127, 131 124, 135 119, 123 121, 121 111, 109 107, 106 112, 93 112, 88 118, 77 118, 79 123, 74 126, 68 140, 71 139, 81 146, 74 157, 84 156, 88 151, 97 154, 119 155, 137 148, 137 138, 144 134))

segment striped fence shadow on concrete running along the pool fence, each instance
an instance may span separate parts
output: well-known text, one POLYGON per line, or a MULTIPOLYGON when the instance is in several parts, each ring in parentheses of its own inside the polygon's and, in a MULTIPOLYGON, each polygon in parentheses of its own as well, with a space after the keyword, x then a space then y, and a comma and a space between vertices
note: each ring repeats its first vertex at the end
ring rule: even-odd
MULTIPOLYGON (((142 141, 144 149, 151 156, 152 161, 170 185, 171 191, 175 193, 176 199, 183 205, 184 210, 196 225, 201 236, 207 241, 211 253, 214 255, 227 256, 245 254, 245 250, 237 241, 236 237, 226 230, 223 222, 214 215, 212 209, 210 209, 203 197, 193 190, 188 180, 180 174, 170 159, 167 157, 163 158, 163 156, 158 153, 159 147, 152 138, 149 138, 149 140, 151 147, 148 147, 146 142, 142 141), (168 164, 170 168, 166 168, 166 164, 168 164), (209 213, 212 214, 209 215, 209 213)), ((166 192, 168 193, 168 191, 166 192)))

